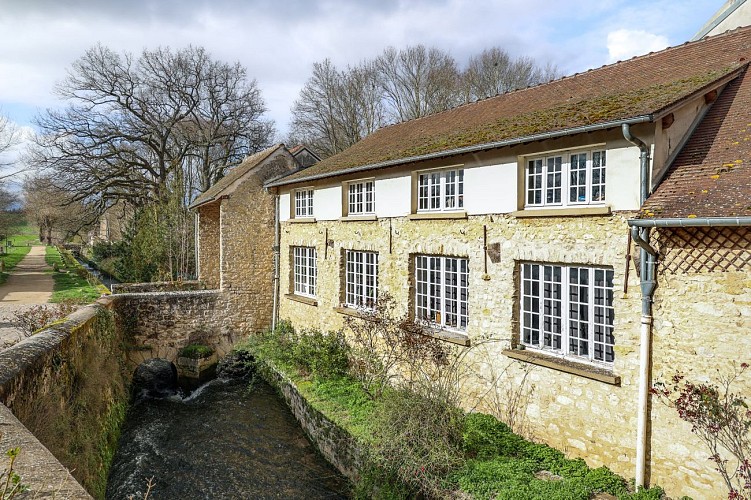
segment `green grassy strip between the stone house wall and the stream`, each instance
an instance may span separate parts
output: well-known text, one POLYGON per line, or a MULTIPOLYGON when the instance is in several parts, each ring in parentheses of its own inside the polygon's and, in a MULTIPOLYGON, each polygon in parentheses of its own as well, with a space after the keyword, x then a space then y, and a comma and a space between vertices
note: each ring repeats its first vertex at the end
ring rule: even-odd
MULTIPOLYGON (((299 356, 295 356, 300 350, 296 345, 298 342, 300 338, 291 325, 281 324, 277 332, 250 337, 240 349, 250 351, 261 366, 265 364, 272 370, 284 373, 311 406, 345 429, 371 452, 383 449, 384 442, 393 442, 397 449, 409 446, 402 437, 379 431, 383 427, 379 422, 384 421, 383 409, 388 398, 370 399, 359 382, 347 375, 326 377, 311 371, 309 366, 301 366, 305 363, 300 363, 299 356), (381 442, 381 439, 387 441, 381 442)), ((385 395, 389 396, 392 392, 395 391, 387 391, 385 395)), ((402 404, 398 398, 397 403, 402 404)), ((415 413, 414 420, 420 427, 436 425, 431 424, 427 411, 412 411, 403 404, 397 405, 397 410, 415 413)), ((550 446, 527 441, 511 432, 506 424, 494 416, 463 414, 459 422, 461 435, 458 440, 461 443, 456 452, 456 463, 447 465, 448 472, 438 477, 439 487, 445 494, 480 499, 588 500, 597 492, 605 492, 619 499, 662 498, 663 492, 659 487, 634 493, 633 487, 624 478, 608 468, 591 469, 580 458, 569 459, 550 446)), ((404 427, 402 423, 398 426, 404 427)), ((417 434, 420 433, 408 433, 408 436, 417 434)), ((409 439, 407 437, 407 441, 409 439)), ((430 446, 428 451, 435 448, 430 446)), ((410 460, 415 467, 429 461, 425 457, 410 460)), ((422 469, 425 470, 425 467, 422 469)), ((369 496, 368 492, 372 493, 373 488, 381 493, 385 492, 384 488, 394 489, 394 492, 384 493, 381 498, 407 498, 416 492, 414 488, 405 489, 395 483, 388 473, 384 476, 384 470, 381 468, 383 477, 361 471, 362 481, 356 488, 364 494, 363 498, 369 496)))

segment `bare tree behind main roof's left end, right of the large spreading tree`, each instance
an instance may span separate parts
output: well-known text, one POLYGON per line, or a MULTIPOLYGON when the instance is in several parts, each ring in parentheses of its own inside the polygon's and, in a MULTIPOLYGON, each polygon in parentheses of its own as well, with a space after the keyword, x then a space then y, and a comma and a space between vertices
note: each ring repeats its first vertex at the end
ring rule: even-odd
POLYGON ((339 71, 329 59, 313 64, 292 115, 290 141, 304 142, 324 157, 353 145, 383 124, 374 65, 339 71))

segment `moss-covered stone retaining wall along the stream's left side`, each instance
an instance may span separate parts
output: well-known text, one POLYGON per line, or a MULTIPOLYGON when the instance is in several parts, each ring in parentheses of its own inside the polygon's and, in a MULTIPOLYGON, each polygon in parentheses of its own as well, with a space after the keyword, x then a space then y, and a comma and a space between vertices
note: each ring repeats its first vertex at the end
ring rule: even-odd
POLYGON ((104 496, 132 373, 111 307, 100 299, 0 352, 0 446, 21 447, 34 498, 104 496))

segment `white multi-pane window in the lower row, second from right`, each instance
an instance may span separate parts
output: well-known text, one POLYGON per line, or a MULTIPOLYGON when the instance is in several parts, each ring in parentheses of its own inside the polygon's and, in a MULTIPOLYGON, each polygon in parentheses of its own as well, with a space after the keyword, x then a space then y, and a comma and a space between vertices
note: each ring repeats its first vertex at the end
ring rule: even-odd
POLYGON ((415 318, 439 327, 467 329, 468 259, 415 256, 415 318))

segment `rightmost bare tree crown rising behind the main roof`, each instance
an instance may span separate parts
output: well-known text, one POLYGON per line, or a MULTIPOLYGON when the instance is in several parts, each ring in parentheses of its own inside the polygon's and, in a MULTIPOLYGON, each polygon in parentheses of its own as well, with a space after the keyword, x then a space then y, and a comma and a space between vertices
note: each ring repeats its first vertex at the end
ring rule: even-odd
POLYGON ((493 47, 470 58, 462 74, 462 93, 469 102, 557 77, 558 70, 551 64, 541 67, 530 57, 513 59, 504 49, 493 47))

